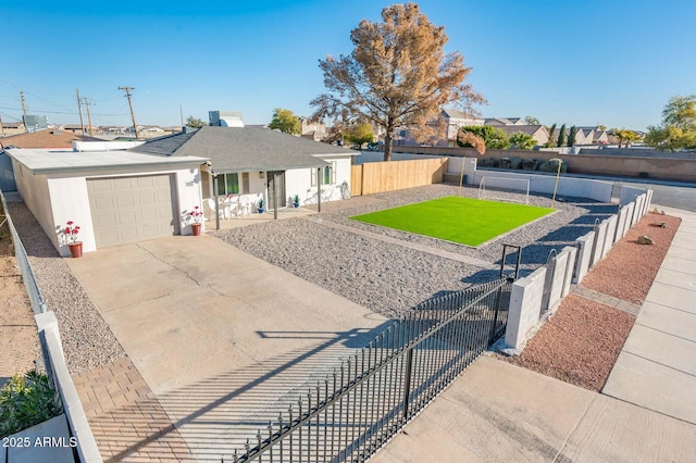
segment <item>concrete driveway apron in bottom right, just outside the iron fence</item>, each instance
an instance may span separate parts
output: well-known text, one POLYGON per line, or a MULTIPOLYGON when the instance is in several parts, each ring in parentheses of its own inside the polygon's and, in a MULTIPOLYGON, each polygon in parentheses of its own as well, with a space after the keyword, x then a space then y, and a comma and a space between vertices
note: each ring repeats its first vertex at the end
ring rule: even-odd
POLYGON ((370 462, 689 462, 696 426, 481 356, 370 462))

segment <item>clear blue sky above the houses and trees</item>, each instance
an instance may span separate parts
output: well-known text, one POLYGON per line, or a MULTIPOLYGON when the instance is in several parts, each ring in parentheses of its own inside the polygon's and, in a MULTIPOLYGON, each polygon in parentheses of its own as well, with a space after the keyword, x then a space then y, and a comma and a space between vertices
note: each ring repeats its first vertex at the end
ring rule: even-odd
MULTIPOLYGON (((352 50, 363 18, 393 2, 10 2, 0 7, 0 115, 78 123, 75 89, 95 125, 128 125, 119 87, 135 87, 138 124, 208 120, 241 111, 248 124, 274 108, 309 115, 323 91, 318 60, 352 50), (103 4, 101 4, 103 3, 103 4)), ((645 129, 669 98, 696 93, 696 2, 428 0, 421 10, 473 67, 486 117, 645 129)))

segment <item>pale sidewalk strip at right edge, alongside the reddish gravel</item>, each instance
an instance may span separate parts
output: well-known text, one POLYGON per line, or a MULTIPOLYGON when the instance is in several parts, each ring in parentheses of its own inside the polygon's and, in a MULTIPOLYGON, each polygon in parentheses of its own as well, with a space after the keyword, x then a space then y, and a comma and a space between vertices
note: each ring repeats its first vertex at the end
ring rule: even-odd
POLYGON ((696 213, 682 224, 602 393, 696 425, 696 213))

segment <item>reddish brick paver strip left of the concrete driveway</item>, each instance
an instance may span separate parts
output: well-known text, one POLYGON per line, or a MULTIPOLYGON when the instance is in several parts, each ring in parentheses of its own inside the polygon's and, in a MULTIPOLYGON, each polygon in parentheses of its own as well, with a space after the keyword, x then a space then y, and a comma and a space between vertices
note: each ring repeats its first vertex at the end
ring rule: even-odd
POLYGON ((130 359, 80 372, 73 381, 104 461, 192 461, 130 359))

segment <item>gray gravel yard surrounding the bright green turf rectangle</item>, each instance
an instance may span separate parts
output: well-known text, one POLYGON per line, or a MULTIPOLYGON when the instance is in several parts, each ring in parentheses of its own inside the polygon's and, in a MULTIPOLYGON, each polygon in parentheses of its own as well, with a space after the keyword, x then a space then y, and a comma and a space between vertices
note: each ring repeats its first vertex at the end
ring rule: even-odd
MULTIPOLYGON (((265 222, 221 230, 215 232, 214 235, 332 292, 341 295, 382 315, 395 317, 423 300, 496 278, 499 271, 492 267, 499 266, 504 242, 525 247, 522 252, 522 268, 523 274, 530 273, 546 263, 551 249, 560 251, 564 246, 571 245, 577 237, 586 234, 595 218, 601 220, 617 210, 612 204, 585 202, 585 200, 557 202, 558 212, 478 248, 349 218, 356 214, 396 205, 456 196, 458 189, 451 185, 432 185, 372 195, 373 200, 363 205, 322 212, 310 217, 265 222), (366 238, 359 233, 327 227, 318 223, 318 218, 350 227, 356 232, 368 230, 484 260, 490 265, 481 267, 396 243, 366 238)), ((463 188, 462 192, 464 196, 476 197, 477 189, 463 188)), ((548 207, 550 199, 531 196, 530 203, 548 207)), ((509 262, 512 261, 513 256, 510 256, 509 262)))

